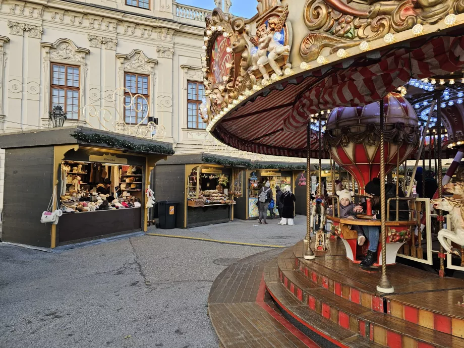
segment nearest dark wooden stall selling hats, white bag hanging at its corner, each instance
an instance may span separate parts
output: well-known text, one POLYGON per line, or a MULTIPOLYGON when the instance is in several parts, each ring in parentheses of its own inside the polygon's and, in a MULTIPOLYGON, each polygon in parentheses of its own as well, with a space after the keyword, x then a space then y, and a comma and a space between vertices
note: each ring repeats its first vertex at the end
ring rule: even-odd
POLYGON ((2 241, 45 248, 145 231, 151 170, 173 153, 166 143, 80 126, 2 134, 0 146, 2 241))

